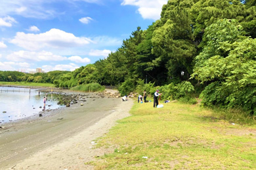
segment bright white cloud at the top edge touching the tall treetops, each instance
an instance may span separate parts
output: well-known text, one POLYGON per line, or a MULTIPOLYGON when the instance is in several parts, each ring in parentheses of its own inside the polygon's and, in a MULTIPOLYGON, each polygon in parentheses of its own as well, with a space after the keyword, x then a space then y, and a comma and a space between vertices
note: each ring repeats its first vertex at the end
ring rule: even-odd
POLYGON ((133 5, 139 7, 138 11, 144 19, 160 19, 161 7, 168 0, 123 0, 121 5, 133 5))

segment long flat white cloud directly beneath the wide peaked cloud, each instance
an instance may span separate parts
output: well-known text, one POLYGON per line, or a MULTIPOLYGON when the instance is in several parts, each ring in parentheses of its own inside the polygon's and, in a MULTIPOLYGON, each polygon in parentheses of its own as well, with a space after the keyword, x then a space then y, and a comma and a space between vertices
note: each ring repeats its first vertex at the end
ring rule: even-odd
POLYGON ((22 62, 22 61, 62 61, 68 58, 64 56, 55 55, 47 51, 30 52, 30 51, 16 51, 6 57, 10 61, 22 62))

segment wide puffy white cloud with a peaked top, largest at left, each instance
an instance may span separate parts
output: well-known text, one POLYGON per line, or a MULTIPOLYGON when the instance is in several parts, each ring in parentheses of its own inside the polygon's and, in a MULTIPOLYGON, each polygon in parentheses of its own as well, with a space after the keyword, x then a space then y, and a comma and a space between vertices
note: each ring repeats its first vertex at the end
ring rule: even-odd
POLYGON ((44 47, 80 47, 91 42, 93 41, 87 37, 75 37, 73 33, 67 33, 55 28, 51 29, 49 32, 39 34, 18 32, 14 39, 10 41, 10 43, 18 45, 19 47, 34 51, 44 47))

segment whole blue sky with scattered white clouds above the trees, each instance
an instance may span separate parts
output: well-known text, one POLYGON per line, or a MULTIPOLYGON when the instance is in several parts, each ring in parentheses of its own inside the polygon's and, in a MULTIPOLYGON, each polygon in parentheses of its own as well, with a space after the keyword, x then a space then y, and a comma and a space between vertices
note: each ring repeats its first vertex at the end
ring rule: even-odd
POLYGON ((73 71, 106 58, 167 0, 0 0, 0 70, 73 71))

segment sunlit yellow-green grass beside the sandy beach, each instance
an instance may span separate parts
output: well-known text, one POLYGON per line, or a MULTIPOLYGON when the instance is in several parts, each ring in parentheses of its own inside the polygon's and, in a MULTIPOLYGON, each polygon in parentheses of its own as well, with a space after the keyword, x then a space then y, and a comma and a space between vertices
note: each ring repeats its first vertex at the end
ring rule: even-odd
POLYGON ((135 101, 130 117, 98 138, 112 150, 95 169, 255 169, 256 126, 230 123, 198 104, 135 101))

